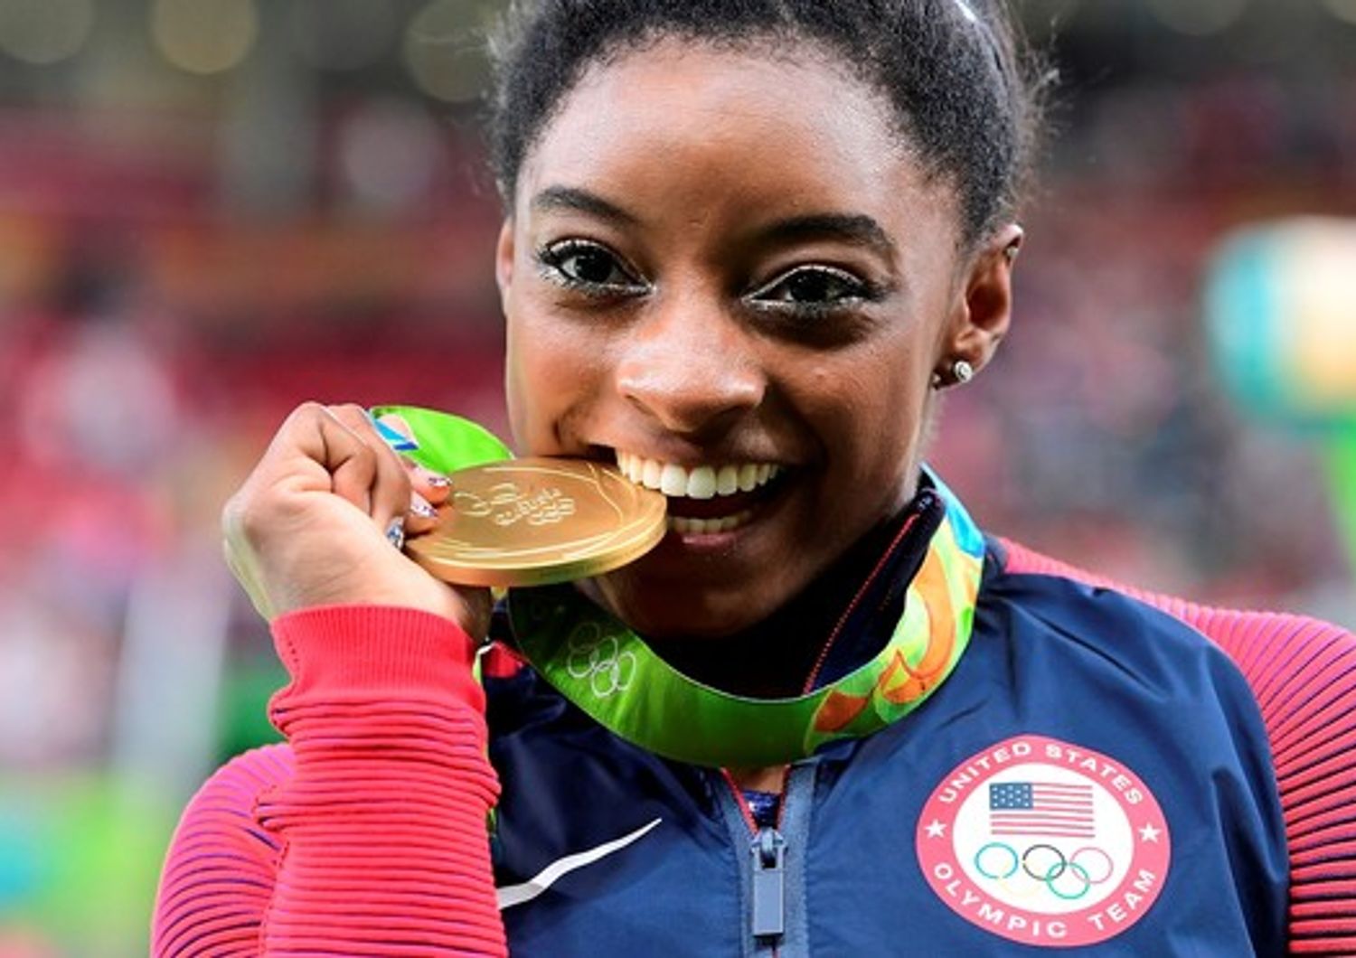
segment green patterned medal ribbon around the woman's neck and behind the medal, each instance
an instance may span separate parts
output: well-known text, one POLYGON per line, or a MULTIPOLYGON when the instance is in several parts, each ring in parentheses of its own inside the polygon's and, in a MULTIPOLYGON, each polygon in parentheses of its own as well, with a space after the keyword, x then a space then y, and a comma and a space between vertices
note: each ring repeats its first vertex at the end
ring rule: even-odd
MULTIPOLYGON (((469 420, 378 407, 411 425, 422 465, 454 472, 504 459, 507 447, 469 420), (488 436, 488 440, 485 439, 488 436)), ((951 675, 970 642, 984 542, 936 476, 945 516, 904 593, 890 641, 869 661, 807 695, 755 699, 690 679, 572 585, 511 589, 519 650, 570 702, 622 738, 679 762, 761 768, 814 755, 896 722, 951 675)))

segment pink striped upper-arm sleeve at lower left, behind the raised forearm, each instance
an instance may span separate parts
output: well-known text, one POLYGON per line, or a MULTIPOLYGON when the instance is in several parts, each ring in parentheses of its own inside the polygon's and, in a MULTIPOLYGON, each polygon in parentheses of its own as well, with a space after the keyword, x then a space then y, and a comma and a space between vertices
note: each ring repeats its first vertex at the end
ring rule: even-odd
POLYGON ((224 764, 193 797, 165 855, 152 954, 254 954, 281 852, 255 806, 293 768, 289 745, 266 745, 224 764))

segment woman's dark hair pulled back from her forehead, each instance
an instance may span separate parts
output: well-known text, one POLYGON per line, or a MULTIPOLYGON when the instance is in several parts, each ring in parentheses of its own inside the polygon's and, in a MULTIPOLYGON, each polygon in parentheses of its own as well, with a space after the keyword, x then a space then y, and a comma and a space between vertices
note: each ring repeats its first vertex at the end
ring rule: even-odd
POLYGON ((1016 214, 1048 75, 1002 0, 515 0, 492 50, 490 157, 506 203, 584 70, 666 37, 818 43, 888 96, 914 154, 955 186, 965 243, 1016 214))

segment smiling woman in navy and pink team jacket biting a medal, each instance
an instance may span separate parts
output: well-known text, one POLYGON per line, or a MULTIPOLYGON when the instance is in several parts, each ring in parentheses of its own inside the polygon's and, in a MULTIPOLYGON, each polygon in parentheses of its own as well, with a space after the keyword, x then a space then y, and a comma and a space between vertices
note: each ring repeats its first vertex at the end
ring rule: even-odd
POLYGON ((1349 829, 1319 813, 1353 775, 1306 779, 1258 702, 1351 637, 1079 584, 922 467, 1008 332, 1033 104, 970 0, 522 14, 494 121, 514 436, 648 476, 670 531, 491 625, 388 539, 446 478, 361 409, 293 413, 226 514, 289 744, 186 812, 156 953, 1348 947, 1352 854, 1294 856, 1349 829))

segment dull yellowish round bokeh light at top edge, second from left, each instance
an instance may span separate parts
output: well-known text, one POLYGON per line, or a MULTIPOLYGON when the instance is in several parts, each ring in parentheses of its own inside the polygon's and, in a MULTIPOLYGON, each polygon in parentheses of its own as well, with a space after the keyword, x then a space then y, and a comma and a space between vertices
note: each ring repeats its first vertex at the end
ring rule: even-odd
POLYGON ((151 34, 171 64, 188 73, 221 73, 250 54, 259 33, 254 0, 155 0, 151 34))

